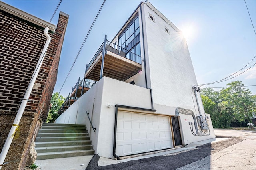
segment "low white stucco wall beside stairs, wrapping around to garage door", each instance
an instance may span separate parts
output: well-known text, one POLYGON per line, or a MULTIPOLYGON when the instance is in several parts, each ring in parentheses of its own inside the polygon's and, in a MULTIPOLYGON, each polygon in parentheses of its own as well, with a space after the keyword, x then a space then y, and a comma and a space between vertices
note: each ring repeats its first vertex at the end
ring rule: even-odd
POLYGON ((62 113, 55 123, 86 124, 95 154, 113 158, 116 104, 151 109, 150 90, 103 77, 62 113), (85 111, 89 112, 96 132, 93 132, 85 111))

